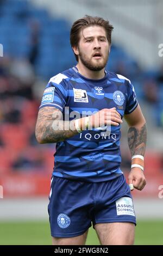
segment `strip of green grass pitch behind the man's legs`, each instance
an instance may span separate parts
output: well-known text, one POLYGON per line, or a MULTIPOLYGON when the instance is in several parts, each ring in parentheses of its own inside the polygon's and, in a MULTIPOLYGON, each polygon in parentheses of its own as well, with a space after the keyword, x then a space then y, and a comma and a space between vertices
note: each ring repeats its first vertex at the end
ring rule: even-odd
MULTIPOLYGON (((135 245, 163 245, 163 220, 137 220, 135 245)), ((48 222, 0 222, 0 245, 51 245, 48 222)), ((99 245, 96 232, 90 228, 87 245, 99 245)))

